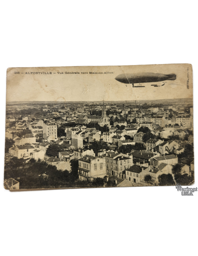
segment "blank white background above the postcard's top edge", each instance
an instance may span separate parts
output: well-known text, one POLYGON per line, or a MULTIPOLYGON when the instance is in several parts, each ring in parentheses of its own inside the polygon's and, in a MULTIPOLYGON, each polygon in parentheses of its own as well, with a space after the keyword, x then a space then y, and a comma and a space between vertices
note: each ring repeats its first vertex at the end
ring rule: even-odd
POLYGON ((0 19, 1 59, 197 59, 193 0, 2 1, 0 19))

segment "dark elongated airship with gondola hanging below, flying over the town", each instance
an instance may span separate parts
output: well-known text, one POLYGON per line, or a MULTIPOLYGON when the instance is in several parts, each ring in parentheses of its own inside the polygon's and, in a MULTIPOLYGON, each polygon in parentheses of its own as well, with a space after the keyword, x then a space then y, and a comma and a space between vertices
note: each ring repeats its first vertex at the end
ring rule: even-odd
MULTIPOLYGON (((155 83, 162 82, 166 80, 176 80, 176 74, 160 74, 160 73, 133 73, 133 74, 120 74, 116 76, 115 80, 124 84, 132 84, 133 87, 145 87, 140 86, 140 83, 155 83), (139 86, 134 86, 134 84, 139 84, 139 86)), ((165 83, 164 83, 165 84, 165 83)), ((164 85, 163 84, 163 85, 164 85)), ((151 86, 158 87, 163 85, 151 84, 151 86)))

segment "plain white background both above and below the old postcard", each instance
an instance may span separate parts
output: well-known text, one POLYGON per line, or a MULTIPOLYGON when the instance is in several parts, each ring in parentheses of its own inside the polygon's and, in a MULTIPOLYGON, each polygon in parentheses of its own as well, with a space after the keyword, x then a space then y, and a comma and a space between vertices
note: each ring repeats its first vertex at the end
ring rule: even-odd
MULTIPOLYGON (((3 1, 0 57, 192 60, 196 12, 195 1, 3 1)), ((2 255, 193 255, 195 199, 1 197, 2 255)))

